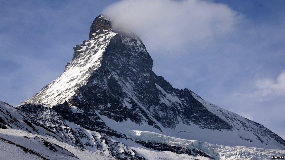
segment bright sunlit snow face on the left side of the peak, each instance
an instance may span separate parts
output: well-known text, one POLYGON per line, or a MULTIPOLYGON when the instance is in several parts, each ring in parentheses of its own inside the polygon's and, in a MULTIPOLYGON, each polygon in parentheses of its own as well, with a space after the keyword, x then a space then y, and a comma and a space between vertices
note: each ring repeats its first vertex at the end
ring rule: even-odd
POLYGON ((99 34, 94 39, 86 41, 81 49, 84 51, 88 48, 86 52, 81 53, 84 56, 77 56, 73 59, 72 63, 65 68, 60 77, 41 89, 26 102, 41 102, 48 106, 54 106, 72 97, 77 88, 85 85, 86 79, 88 79, 92 71, 100 67, 105 48, 108 46, 110 39, 116 34, 110 30, 105 34, 99 34))

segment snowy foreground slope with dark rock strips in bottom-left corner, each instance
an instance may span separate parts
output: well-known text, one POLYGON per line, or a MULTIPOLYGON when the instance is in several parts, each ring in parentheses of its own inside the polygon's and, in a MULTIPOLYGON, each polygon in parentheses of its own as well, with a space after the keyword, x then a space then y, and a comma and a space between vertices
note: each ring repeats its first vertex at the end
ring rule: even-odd
POLYGON ((17 129, 0 129, 0 159, 113 159, 55 138, 17 129), (46 145, 44 144, 46 142, 46 145), (13 144, 11 144, 13 143, 13 144))

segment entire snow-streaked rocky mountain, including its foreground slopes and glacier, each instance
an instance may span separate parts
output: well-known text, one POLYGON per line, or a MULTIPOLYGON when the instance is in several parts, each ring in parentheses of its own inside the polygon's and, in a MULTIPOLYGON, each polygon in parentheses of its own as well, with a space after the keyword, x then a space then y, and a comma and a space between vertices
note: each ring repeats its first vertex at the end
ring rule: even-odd
POLYGON ((6 135, 5 145, 17 134, 40 137, 32 139, 37 146, 62 147, 53 154, 65 159, 88 159, 86 152, 107 159, 266 159, 285 154, 281 137, 190 89, 173 88, 152 65, 138 36, 99 15, 89 39, 74 47, 72 61, 56 80, 16 108, 0 103, 0 137, 6 135))

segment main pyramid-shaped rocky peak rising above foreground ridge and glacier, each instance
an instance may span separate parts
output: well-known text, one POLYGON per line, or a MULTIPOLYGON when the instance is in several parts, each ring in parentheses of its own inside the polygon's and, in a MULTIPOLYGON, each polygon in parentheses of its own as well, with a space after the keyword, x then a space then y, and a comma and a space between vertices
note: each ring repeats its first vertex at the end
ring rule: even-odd
POLYGON ((224 134, 230 135, 226 145, 243 141, 284 148, 285 141, 264 126, 207 103, 189 89, 173 88, 152 71, 152 64, 137 36, 114 29, 100 15, 90 27, 88 41, 74 47, 62 75, 27 102, 44 103, 69 122, 109 136, 124 138, 126 133, 115 131, 102 117, 131 121, 137 128, 147 124, 178 137, 188 133, 181 138, 211 140, 206 134, 211 133, 213 139, 220 138, 215 143, 223 143, 219 135, 224 134), (186 128, 177 129, 180 125, 186 128))

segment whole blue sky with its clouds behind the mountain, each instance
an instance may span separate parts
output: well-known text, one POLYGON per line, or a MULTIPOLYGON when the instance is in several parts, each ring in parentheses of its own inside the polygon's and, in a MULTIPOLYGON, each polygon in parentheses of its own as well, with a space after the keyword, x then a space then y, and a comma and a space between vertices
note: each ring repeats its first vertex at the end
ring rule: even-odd
POLYGON ((0 101, 17 106, 57 78, 100 13, 140 36, 175 88, 285 139, 285 1, 2 1, 0 101))

